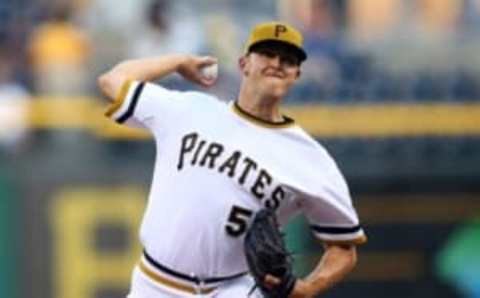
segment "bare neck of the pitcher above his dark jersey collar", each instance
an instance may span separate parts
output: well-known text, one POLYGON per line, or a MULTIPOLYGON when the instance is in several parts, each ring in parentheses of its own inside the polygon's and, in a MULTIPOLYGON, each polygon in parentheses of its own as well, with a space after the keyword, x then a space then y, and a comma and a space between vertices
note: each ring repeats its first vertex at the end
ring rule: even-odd
POLYGON ((280 114, 280 98, 265 97, 258 92, 251 92, 247 88, 241 88, 237 103, 242 110, 270 122, 281 122, 284 120, 280 114))

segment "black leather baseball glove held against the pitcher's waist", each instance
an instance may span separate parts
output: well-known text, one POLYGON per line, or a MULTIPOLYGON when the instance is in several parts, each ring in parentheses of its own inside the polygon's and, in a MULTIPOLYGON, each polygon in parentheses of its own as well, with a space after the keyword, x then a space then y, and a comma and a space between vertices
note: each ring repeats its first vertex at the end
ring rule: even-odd
POLYGON ((279 230, 275 212, 260 210, 245 235, 245 256, 256 287, 266 298, 287 298, 295 286, 293 261, 279 230), (265 276, 280 280, 276 286, 265 284, 265 276))

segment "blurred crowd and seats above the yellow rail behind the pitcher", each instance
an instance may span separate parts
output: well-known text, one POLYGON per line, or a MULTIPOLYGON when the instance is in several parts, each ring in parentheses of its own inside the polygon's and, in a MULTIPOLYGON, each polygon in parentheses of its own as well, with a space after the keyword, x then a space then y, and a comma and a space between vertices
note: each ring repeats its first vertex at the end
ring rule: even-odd
POLYGON ((231 99, 242 41, 271 19, 305 34, 290 102, 479 98, 479 0, 0 0, 0 96, 96 95, 120 60, 184 52, 219 57, 214 92, 231 99))

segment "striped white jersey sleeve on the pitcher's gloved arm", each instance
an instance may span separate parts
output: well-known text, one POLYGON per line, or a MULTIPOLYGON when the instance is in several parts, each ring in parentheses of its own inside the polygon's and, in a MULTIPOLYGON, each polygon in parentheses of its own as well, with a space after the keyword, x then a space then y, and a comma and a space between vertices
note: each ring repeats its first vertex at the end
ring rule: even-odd
POLYGON ((304 201, 304 213, 316 238, 325 243, 363 244, 367 237, 353 207, 347 183, 334 167, 304 201))

